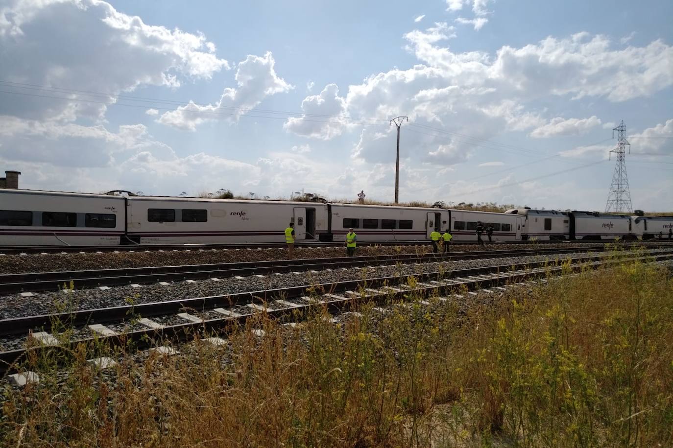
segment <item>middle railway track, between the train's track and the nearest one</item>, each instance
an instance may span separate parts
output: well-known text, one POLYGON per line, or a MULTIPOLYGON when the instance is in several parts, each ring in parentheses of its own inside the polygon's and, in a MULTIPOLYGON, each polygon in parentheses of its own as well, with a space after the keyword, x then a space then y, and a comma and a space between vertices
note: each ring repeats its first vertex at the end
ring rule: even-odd
MULTIPOLYGON (((588 245, 582 250, 604 251, 600 244, 588 245)), ((73 270, 61 272, 33 272, 25 274, 0 274, 0 295, 22 292, 57 291, 71 281, 78 289, 110 287, 115 285, 184 281, 201 278, 267 275, 283 272, 306 272, 358 266, 389 265, 409 262, 441 262, 449 260, 474 260, 507 256, 532 256, 540 254, 567 254, 577 248, 536 248, 519 250, 489 250, 453 252, 450 254, 396 254, 382 256, 358 256, 343 258, 315 258, 308 260, 272 260, 239 263, 197 264, 180 266, 151 266, 143 268, 119 268, 96 270, 73 270)))

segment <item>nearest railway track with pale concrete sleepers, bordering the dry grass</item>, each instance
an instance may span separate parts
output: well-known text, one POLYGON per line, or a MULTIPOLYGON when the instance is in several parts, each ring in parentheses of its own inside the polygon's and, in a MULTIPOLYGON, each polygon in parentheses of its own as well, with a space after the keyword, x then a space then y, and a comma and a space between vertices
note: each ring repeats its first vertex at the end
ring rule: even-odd
MULTIPOLYGON (((514 265, 495 264, 450 272, 427 272, 415 276, 388 276, 366 281, 304 285, 7 319, 0 321, 0 336, 30 334, 39 346, 0 352, 0 373, 14 369, 15 363, 26 359, 29 352, 44 354, 49 350, 71 350, 77 344, 94 346, 94 343, 101 342, 110 346, 133 346, 135 349, 143 349, 160 342, 191 340, 195 335, 206 338, 213 334, 221 336, 235 326, 246 324, 248 319, 258 313, 267 313, 271 318, 284 321, 291 317, 300 318, 316 305, 326 307, 330 313, 339 313, 363 302, 384 303, 404 300, 412 293, 415 297, 439 297, 437 300, 447 300, 441 296, 456 293, 458 290, 500 288, 501 285, 520 283, 548 274, 561 274, 623 262, 623 258, 607 260, 602 258, 602 254, 585 254, 567 258, 564 265, 550 265, 546 261, 514 265), (162 325, 149 319, 176 313, 184 323, 162 325), (217 317, 211 317, 213 314, 217 317), (127 320, 135 322, 135 328, 123 334, 104 326, 110 322, 127 320), (137 328, 138 326, 143 328, 137 328), (80 338, 62 342, 60 338, 49 333, 52 328, 77 328, 80 338), (32 333, 36 330, 37 332, 32 333)), ((670 260, 673 258, 673 249, 652 256, 632 254, 625 258, 648 262, 670 260)), ((425 301, 424 304, 429 305, 429 302, 425 301)))

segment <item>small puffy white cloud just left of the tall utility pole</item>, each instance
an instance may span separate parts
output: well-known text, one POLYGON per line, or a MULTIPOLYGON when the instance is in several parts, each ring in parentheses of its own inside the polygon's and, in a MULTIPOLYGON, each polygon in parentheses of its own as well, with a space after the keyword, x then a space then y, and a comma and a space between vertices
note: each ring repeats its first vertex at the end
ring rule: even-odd
POLYGON ((328 84, 320 94, 304 98, 302 116, 289 118, 283 128, 304 137, 332 139, 341 135, 347 124, 345 112, 346 101, 339 96, 339 87, 328 84))

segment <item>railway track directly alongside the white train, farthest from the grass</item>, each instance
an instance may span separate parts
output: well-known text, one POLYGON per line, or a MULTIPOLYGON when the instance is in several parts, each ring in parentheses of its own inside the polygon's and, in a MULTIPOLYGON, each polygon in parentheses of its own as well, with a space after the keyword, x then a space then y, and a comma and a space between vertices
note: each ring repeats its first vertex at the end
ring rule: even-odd
MULTIPOLYGON (((564 241, 493 241, 487 244, 559 244, 564 241)), ((597 244, 612 243, 612 240, 604 241, 565 241, 569 244, 597 244)), ((662 241, 643 241, 644 244, 660 244, 662 241)), ((453 241, 452 246, 464 244, 476 244, 476 241, 453 241)), ((625 242, 624 244, 633 244, 625 242)), ((358 242, 358 246, 429 246, 430 241, 371 241, 358 242)), ((343 241, 330 243, 295 243, 295 248, 334 248, 343 246, 343 241)), ((155 251, 180 251, 180 250, 219 250, 219 249, 269 249, 285 248, 285 243, 264 244, 137 244, 121 246, 0 246, 0 255, 19 254, 71 254, 90 252, 155 252, 155 251)))

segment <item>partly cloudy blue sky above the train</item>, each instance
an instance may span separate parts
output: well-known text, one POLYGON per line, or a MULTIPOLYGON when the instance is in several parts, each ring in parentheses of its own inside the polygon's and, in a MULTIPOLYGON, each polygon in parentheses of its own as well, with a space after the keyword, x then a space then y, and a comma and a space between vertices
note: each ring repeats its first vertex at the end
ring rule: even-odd
POLYGON ((673 210, 673 2, 0 0, 0 172, 44 190, 673 210))

